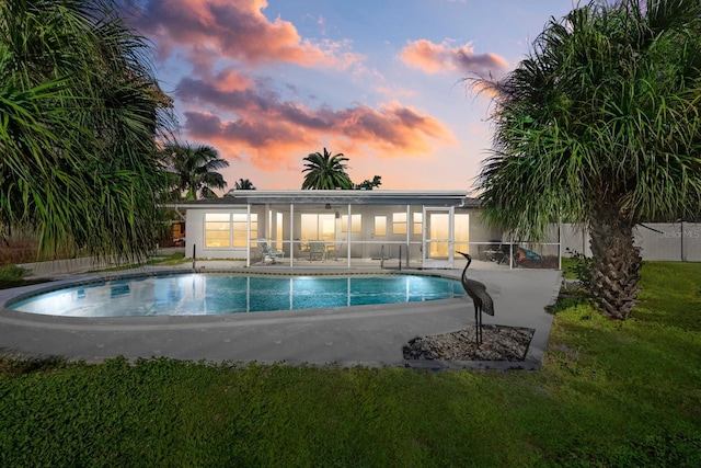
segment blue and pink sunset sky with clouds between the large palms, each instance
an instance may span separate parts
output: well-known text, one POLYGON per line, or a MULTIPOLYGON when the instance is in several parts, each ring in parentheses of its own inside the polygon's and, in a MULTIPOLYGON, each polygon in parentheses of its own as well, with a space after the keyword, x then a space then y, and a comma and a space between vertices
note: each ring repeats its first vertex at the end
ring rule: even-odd
POLYGON ((355 183, 474 186, 499 77, 572 0, 126 0, 174 99, 179 138, 216 148, 229 189, 300 189, 303 161, 343 152, 355 183))

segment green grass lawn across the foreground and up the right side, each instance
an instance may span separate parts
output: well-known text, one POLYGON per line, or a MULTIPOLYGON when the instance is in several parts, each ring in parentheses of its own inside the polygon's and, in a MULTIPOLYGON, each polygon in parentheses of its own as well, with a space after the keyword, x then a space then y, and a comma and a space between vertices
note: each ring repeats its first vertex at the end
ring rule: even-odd
POLYGON ((701 264, 631 320, 556 307, 540 372, 0 361, 0 466, 701 466, 701 264))

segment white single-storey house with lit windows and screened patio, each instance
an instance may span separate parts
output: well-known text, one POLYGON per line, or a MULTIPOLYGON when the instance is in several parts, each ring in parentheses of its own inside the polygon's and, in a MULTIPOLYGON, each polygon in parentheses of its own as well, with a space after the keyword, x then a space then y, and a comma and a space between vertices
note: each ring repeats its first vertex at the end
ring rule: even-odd
POLYGON ((176 208, 186 210, 186 256, 246 265, 387 260, 452 267, 456 250, 475 255, 502 239, 480 222, 475 202, 462 191, 232 191, 176 208), (263 246, 281 259, 264 255, 263 246))

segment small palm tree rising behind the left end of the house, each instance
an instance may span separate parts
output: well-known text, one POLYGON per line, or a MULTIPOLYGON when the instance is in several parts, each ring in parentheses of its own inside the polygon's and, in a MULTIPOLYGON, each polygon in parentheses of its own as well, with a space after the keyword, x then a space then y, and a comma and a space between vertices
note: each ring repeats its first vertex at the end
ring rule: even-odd
POLYGON ((169 172, 175 198, 185 193, 185 199, 217 198, 212 189, 226 189, 223 176, 217 172, 228 168, 229 162, 219 158, 219 153, 210 146, 193 146, 169 144, 163 148, 169 161, 169 172))

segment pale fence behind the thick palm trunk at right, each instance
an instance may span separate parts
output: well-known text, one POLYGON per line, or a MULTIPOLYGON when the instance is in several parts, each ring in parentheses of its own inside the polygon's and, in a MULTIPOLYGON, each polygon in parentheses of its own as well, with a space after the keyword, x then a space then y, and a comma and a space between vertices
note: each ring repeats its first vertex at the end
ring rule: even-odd
MULTIPOLYGON (((561 242, 565 249, 591 256, 589 235, 575 225, 562 225, 561 242)), ((635 244, 641 248, 643 260, 701 262, 701 224, 650 222, 634 230, 635 244)))

